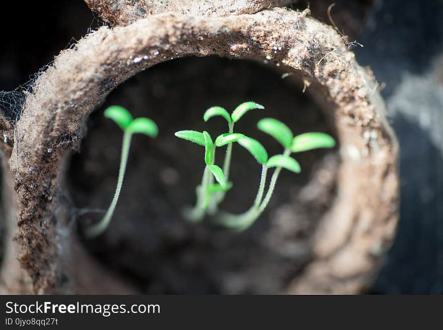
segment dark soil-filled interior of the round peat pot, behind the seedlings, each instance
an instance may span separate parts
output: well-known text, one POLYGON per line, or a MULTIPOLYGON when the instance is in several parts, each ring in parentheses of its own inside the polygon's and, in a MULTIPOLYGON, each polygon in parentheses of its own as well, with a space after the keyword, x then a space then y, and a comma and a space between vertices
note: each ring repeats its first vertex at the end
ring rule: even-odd
MULTIPOLYGON (((333 135, 302 87, 257 63, 217 57, 150 68, 119 86, 91 115, 88 135, 67 175, 72 199, 84 209, 80 223, 99 220, 101 214, 88 209, 106 209, 117 181, 122 132, 103 117, 104 109, 125 106, 134 117, 152 118, 160 129, 156 139, 134 135, 111 224, 99 239, 85 241, 98 260, 141 293, 279 293, 309 261, 310 238, 334 194, 338 158, 332 151, 294 155, 302 173, 282 171, 267 210, 241 234, 207 219, 192 225, 181 216, 183 207, 195 203, 204 150, 174 132, 206 130, 215 138, 227 132, 226 121, 205 123, 205 109, 220 105, 231 112, 246 100, 263 104, 265 111, 249 112, 236 131, 259 140, 270 156, 282 149, 258 131, 261 118, 281 120, 294 134, 333 135)), ((224 150, 217 149, 219 165, 224 150)), ((254 200, 260 166, 235 145, 231 173, 234 187, 221 206, 242 212, 254 200)))

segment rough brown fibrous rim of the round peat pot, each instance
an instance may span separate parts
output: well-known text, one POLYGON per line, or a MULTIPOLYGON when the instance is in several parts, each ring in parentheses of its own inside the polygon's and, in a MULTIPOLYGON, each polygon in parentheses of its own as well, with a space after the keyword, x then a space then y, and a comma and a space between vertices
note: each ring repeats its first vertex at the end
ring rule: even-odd
MULTIPOLYGON (((106 292, 97 287, 99 281, 85 284, 69 267, 83 252, 73 252, 79 251, 78 244, 69 239, 62 165, 68 149, 84 136, 88 115, 141 70, 173 58, 212 54, 296 71, 306 85, 312 84, 308 91, 329 111, 337 129, 342 162, 336 200, 313 242, 316 258, 288 292, 355 293, 371 283, 393 237, 398 195, 397 143, 377 82, 358 66, 333 28, 309 17, 309 11, 277 8, 226 18, 168 13, 126 27, 103 27, 62 51, 37 79, 16 123, 10 159, 20 261, 35 292, 88 292, 93 287, 106 292)), ((91 276, 84 277, 107 276, 93 261, 90 265, 91 276)))

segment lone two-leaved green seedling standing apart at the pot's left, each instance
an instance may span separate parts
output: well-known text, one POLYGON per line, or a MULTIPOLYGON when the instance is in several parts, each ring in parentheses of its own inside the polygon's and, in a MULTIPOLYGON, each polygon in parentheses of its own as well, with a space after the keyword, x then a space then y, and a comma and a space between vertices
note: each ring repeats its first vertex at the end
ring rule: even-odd
POLYGON ((112 199, 111 205, 100 222, 87 229, 86 235, 89 238, 94 238, 101 235, 111 221, 115 206, 117 205, 118 196, 120 195, 121 186, 123 184, 123 177, 126 169, 126 163, 128 161, 132 135, 141 133, 155 138, 158 134, 157 125, 151 119, 143 117, 133 119, 132 115, 124 107, 117 105, 110 106, 105 110, 104 116, 112 119, 124 132, 120 169, 118 172, 117 187, 115 189, 114 198, 112 199))

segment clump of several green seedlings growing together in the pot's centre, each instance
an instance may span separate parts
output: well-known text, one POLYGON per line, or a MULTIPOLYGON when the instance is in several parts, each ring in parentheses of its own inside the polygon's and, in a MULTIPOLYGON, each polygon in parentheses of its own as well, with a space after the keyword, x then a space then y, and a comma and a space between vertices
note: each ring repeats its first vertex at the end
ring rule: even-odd
POLYGON ((207 109, 203 119, 207 121, 214 116, 221 116, 228 122, 228 133, 222 134, 212 142, 209 134, 196 131, 180 131, 175 135, 179 138, 197 143, 205 147, 205 170, 201 184, 197 186, 197 203, 195 207, 186 212, 186 217, 194 222, 201 221, 206 213, 215 215, 214 220, 217 224, 231 228, 236 231, 243 231, 249 228, 256 219, 261 215, 268 205, 278 176, 282 168, 290 170, 294 173, 300 173, 300 164, 294 158, 290 157, 291 153, 308 151, 318 148, 332 148, 335 141, 332 137, 324 133, 305 133, 293 136, 290 129, 280 121, 272 118, 262 119, 258 122, 259 130, 272 136, 283 147, 282 154, 274 155, 268 158, 265 148, 260 142, 254 140, 244 134, 234 133, 234 123, 236 123, 246 112, 251 109, 263 109, 264 107, 254 102, 245 102, 240 104, 232 113, 226 109, 213 106, 207 109), (229 171, 232 158, 232 145, 237 142, 243 148, 248 150, 256 161, 261 165, 260 183, 257 195, 252 206, 242 214, 231 214, 224 211, 217 213, 217 205, 224 199, 227 191, 232 188, 232 183, 228 181, 229 171), (215 149, 227 145, 227 151, 223 170, 214 164, 215 149), (266 177, 269 168, 274 168, 268 189, 265 192, 266 177), (212 175, 211 175, 212 173, 212 175), (213 179, 218 183, 213 183, 213 179))

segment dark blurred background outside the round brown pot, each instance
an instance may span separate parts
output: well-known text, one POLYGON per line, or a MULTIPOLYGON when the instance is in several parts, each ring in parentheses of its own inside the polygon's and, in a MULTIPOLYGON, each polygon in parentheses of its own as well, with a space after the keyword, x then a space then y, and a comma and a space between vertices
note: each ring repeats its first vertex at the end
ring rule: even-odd
MULTIPOLYGON (((312 0, 329 23, 332 1, 312 0)), ((443 293, 443 1, 336 1, 340 30, 364 47, 399 139, 401 214, 397 236, 372 289, 443 293)), ((15 2, 0 17, 0 90, 12 90, 102 23, 81 0, 15 2)), ((303 8, 301 2, 294 8, 303 8), (298 6, 298 7, 297 7, 298 6)))

